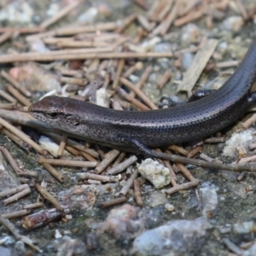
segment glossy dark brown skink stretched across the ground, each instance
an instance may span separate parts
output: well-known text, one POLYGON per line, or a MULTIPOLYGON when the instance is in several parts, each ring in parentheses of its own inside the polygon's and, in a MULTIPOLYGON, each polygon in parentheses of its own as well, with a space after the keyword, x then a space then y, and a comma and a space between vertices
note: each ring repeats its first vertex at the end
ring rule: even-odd
POLYGON ((54 128, 90 141, 155 156, 148 147, 189 142, 223 129, 254 102, 256 41, 227 82, 196 102, 168 109, 119 111, 76 99, 47 96, 29 112, 54 128))

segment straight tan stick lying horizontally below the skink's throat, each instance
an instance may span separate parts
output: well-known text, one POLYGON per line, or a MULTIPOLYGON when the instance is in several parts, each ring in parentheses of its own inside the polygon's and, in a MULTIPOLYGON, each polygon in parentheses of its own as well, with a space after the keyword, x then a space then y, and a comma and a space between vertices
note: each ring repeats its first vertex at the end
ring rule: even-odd
POLYGON ((59 159, 48 159, 40 157, 38 159, 39 164, 48 163, 56 166, 72 166, 72 167, 96 167, 97 162, 90 161, 76 161, 76 160, 59 160, 59 159))

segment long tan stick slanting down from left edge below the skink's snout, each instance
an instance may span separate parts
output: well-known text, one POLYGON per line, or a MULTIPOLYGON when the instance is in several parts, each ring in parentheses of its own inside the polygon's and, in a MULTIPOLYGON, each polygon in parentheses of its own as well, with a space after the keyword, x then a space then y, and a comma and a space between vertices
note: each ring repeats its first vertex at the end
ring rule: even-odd
POLYGON ((0 118, 0 125, 3 125, 8 131, 13 132, 17 137, 20 137, 25 143, 30 145, 32 148, 34 148, 38 153, 46 155, 47 151, 40 147, 37 143, 32 141, 30 137, 28 137, 23 131, 20 131, 17 129, 15 126, 10 125, 7 121, 4 119, 0 118))

